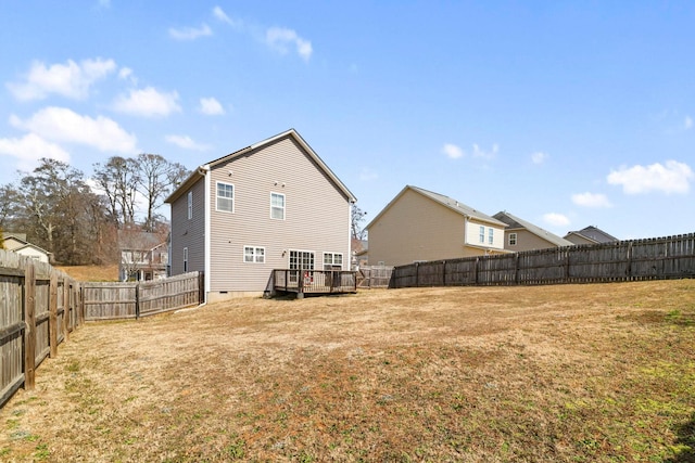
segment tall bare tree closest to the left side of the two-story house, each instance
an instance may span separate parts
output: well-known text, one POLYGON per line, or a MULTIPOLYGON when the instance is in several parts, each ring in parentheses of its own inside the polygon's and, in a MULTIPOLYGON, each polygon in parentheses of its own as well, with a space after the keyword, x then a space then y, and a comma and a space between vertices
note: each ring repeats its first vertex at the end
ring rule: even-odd
POLYGON ((153 231, 156 217, 154 210, 161 201, 187 176, 186 167, 178 163, 169 163, 160 154, 142 153, 138 155, 138 185, 139 192, 146 197, 148 215, 144 229, 153 231))

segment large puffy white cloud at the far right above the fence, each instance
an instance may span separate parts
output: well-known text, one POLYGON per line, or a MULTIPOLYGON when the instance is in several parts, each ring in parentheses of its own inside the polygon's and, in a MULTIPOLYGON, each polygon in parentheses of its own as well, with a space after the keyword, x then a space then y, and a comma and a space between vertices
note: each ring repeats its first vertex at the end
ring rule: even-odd
POLYGON ((621 167, 611 170, 607 177, 609 184, 622 185, 627 194, 648 193, 660 191, 666 194, 687 193, 690 182, 695 177, 688 165, 677 160, 667 160, 666 166, 660 163, 649 166, 621 167))

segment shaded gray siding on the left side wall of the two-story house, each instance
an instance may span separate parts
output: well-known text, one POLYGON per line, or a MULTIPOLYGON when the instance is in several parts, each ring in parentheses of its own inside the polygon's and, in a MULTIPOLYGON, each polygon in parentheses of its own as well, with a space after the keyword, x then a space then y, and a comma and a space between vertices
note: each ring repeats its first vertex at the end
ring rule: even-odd
POLYGON ((188 219, 188 193, 172 203, 172 274, 184 273, 184 248, 188 247, 188 271, 205 271, 205 179, 193 193, 193 217, 188 219))

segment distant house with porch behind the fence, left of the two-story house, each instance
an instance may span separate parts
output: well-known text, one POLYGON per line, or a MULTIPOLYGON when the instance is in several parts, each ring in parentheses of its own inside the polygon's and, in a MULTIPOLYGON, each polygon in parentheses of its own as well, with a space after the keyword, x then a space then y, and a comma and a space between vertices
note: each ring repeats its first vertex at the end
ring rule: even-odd
POLYGON ((168 248, 159 233, 118 230, 121 281, 148 281, 166 276, 168 248))

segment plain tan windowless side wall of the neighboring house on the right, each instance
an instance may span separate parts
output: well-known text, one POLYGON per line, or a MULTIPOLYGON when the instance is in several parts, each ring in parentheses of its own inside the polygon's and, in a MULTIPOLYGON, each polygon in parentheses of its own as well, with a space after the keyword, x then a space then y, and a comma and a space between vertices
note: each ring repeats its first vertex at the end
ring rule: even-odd
POLYGON ((369 262, 387 266, 462 257, 464 216, 406 190, 369 228, 369 262))

